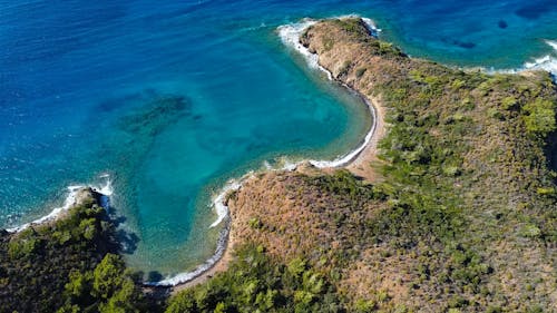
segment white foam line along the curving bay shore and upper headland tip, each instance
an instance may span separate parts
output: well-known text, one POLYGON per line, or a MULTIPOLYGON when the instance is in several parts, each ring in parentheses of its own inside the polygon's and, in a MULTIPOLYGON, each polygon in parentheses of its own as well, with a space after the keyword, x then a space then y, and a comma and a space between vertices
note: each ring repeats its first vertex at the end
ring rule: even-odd
MULTIPOLYGON (((342 16, 338 18, 353 18, 356 16, 342 16)), ((375 23, 370 20, 370 19, 364 19, 362 20, 365 22, 368 30, 370 31, 371 35, 377 36, 378 32, 381 30, 375 27, 375 23)), ((330 80, 333 80, 332 74, 323 68, 322 66, 319 65, 317 61, 317 55, 310 52, 307 48, 305 48, 302 43, 300 43, 300 36, 312 25, 315 25, 317 21, 312 20, 312 19, 304 19, 301 22, 297 23, 291 23, 291 25, 285 25, 281 26, 277 28, 278 36, 281 37, 282 41, 300 52, 305 60, 307 61, 307 65, 312 68, 317 68, 324 71, 330 80)), ((349 88, 348 86, 345 86, 349 88)), ((350 89, 350 88, 349 88, 350 89)), ((363 99, 363 98, 362 98, 363 99)), ((346 154, 345 156, 339 157, 334 160, 305 160, 312 164, 315 167, 319 168, 330 168, 330 167, 340 167, 343 166, 351 160, 353 160, 364 148, 365 146, 370 143, 371 138, 373 137, 373 134, 375 133, 375 126, 377 126, 377 119, 375 119, 375 108, 369 104, 365 99, 363 99, 368 107, 370 108, 371 115, 373 117, 373 125, 370 129, 370 131, 367 134, 363 143, 354 150, 351 153, 346 154)), ((273 167, 268 162, 263 163, 263 167, 266 170, 295 170, 297 166, 300 166, 304 160, 302 162, 290 162, 289 159, 283 159, 278 166, 273 167)), ((218 193, 214 200, 213 200, 213 207, 217 214, 217 218, 213 224, 211 224, 211 228, 219 225, 223 221, 226 221, 225 227, 221 231, 218 241, 217 241, 217 247, 215 251, 215 254, 211 256, 207 261, 205 261, 202 265, 197 266, 194 271, 186 272, 186 273, 180 273, 172 277, 167 277, 163 281, 159 282, 146 282, 145 285, 149 286, 176 286, 178 284, 187 283, 206 271, 211 270, 217 262, 221 260, 223 256, 226 245, 228 242, 228 233, 229 233, 229 208, 226 205, 226 197, 231 192, 238 190, 243 183, 253 177, 253 173, 248 173, 244 175, 241 179, 232 179, 229 180, 225 187, 218 193)))

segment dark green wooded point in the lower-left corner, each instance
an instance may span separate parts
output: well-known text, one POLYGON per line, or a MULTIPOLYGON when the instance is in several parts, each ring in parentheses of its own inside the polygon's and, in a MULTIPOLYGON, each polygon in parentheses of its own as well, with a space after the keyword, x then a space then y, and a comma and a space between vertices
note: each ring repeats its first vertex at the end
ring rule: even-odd
POLYGON ((50 224, 0 234, 0 312, 136 312, 140 288, 117 254, 114 224, 82 190, 50 224))

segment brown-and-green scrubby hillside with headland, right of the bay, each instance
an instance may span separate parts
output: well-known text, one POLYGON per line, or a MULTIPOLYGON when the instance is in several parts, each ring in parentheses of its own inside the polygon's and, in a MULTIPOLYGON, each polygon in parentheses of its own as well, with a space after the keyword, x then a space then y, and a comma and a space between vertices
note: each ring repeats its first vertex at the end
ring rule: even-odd
POLYGON ((231 196, 235 242, 306 261, 349 312, 555 312, 549 75, 409 58, 359 19, 321 21, 301 42, 387 113, 382 177, 261 174, 231 196))

